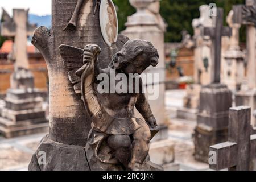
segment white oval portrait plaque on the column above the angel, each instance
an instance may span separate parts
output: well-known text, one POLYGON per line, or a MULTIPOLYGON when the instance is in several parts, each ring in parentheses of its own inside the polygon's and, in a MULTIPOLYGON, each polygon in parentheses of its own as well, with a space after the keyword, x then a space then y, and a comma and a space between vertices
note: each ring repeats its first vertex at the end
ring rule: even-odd
POLYGON ((100 5, 100 26, 102 36, 109 46, 117 42, 118 20, 112 0, 101 0, 100 5))

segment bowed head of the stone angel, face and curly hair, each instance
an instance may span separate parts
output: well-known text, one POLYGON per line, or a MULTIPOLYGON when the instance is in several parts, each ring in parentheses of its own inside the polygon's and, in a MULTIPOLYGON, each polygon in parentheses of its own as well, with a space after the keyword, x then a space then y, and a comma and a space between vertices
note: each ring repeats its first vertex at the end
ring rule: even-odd
POLYGON ((119 69, 125 74, 141 73, 150 65, 158 65, 158 51, 154 46, 144 40, 129 40, 121 51, 113 56, 109 67, 119 69))

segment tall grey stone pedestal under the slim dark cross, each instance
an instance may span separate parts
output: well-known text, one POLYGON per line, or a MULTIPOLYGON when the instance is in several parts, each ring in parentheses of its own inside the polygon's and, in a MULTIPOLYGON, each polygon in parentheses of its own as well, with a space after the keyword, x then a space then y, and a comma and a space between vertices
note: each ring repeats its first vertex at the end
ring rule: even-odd
POLYGON ((195 159, 208 163, 209 147, 228 139, 232 93, 225 85, 210 84, 200 92, 197 126, 193 134, 195 159))

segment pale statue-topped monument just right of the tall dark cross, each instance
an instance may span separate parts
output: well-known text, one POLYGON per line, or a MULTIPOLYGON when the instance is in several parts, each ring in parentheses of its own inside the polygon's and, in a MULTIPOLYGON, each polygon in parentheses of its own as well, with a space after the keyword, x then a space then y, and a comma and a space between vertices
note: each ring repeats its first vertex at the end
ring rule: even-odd
POLYGON ((228 51, 224 52, 224 73, 222 82, 228 85, 233 92, 241 89, 243 78, 245 77, 245 55, 239 46, 240 23, 234 23, 234 10, 229 12, 226 22, 232 28, 230 37, 230 46, 228 51))

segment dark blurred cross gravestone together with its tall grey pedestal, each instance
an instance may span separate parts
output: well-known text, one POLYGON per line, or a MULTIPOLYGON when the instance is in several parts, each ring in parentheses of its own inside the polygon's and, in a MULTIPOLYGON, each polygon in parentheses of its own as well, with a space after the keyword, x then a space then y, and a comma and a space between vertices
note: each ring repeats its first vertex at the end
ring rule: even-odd
POLYGON ((213 42, 212 84, 203 86, 200 92, 197 125, 193 134, 195 159, 208 162, 209 146, 220 143, 228 137, 228 110, 232 105, 232 93, 226 85, 220 84, 221 37, 230 36, 229 27, 223 27, 223 9, 217 8, 215 28, 204 28, 203 35, 213 42))

